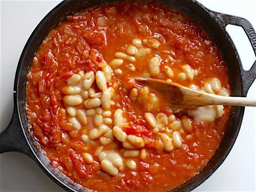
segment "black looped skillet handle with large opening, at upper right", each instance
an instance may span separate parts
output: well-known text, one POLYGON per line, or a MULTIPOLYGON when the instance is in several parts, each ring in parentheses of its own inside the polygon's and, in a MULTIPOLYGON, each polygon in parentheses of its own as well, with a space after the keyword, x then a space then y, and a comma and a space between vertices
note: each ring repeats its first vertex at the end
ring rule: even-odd
MULTIPOLYGON (((256 32, 252 26, 252 24, 246 20, 245 18, 232 16, 228 14, 218 13, 218 12, 211 12, 212 16, 216 18, 216 21, 220 26, 225 29, 228 24, 240 26, 244 29, 250 44, 252 45, 252 49, 256 56, 256 32)), ((247 94, 250 86, 254 82, 256 78, 256 61, 252 64, 252 67, 249 70, 241 70, 242 75, 242 82, 243 82, 243 90, 245 95, 247 94)))

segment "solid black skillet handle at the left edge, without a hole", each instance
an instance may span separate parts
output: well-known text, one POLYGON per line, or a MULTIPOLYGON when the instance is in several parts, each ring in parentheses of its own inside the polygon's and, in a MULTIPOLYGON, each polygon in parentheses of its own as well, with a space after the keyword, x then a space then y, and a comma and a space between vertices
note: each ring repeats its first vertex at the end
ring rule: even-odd
POLYGON ((22 132, 16 106, 14 106, 14 112, 9 125, 0 133, 0 154, 11 151, 21 152, 31 158, 33 157, 33 152, 22 132))

